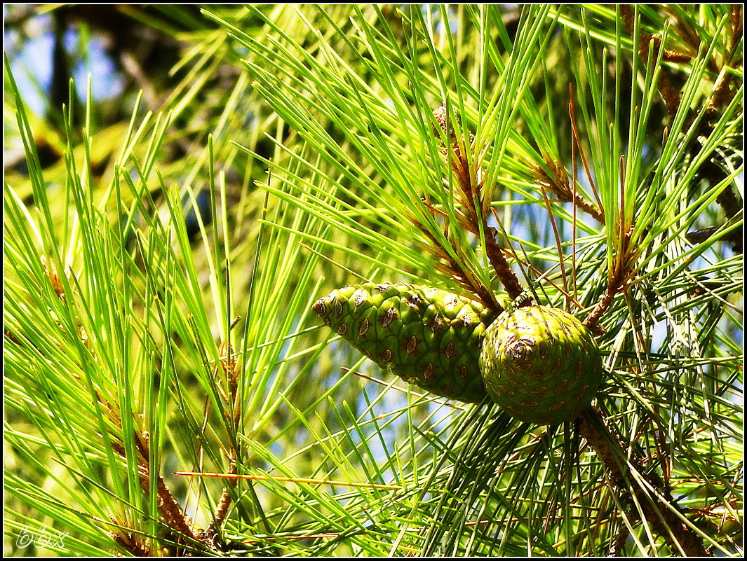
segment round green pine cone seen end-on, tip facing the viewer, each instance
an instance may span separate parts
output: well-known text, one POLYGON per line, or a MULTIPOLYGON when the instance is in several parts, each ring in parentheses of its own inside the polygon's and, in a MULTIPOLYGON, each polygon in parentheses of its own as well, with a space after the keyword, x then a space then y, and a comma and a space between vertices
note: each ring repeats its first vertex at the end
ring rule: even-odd
POLYGON ((480 372, 486 390, 521 421, 557 424, 589 407, 603 377, 589 330, 557 308, 505 312, 485 332, 480 372))

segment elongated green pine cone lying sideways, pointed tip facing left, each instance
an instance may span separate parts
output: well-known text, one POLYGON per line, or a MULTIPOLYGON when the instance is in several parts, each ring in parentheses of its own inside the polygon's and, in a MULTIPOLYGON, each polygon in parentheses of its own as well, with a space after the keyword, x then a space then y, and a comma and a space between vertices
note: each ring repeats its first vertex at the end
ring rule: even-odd
POLYGON ((345 286, 311 307, 382 369, 444 398, 486 395, 478 360, 492 313, 477 301, 410 284, 345 286))

